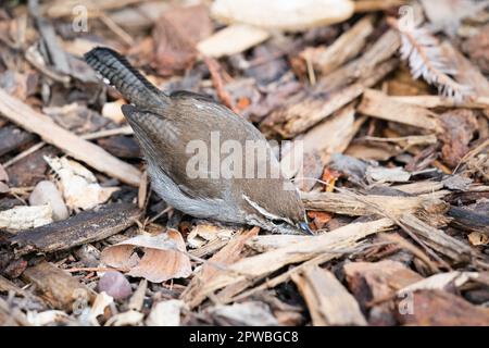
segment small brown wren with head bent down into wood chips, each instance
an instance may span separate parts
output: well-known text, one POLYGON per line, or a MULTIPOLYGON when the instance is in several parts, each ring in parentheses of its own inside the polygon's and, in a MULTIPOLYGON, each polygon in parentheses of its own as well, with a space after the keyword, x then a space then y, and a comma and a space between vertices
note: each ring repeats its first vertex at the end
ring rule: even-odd
POLYGON ((95 48, 85 60, 131 103, 122 111, 148 162, 153 188, 168 204, 196 217, 311 233, 298 190, 281 174, 273 175, 280 173, 279 163, 251 123, 205 96, 164 94, 112 49, 95 48), (262 157, 249 150, 250 144, 261 146, 262 157), (233 175, 223 171, 226 160, 215 161, 225 147, 226 163, 235 160, 233 175), (264 167, 269 170, 265 177, 260 175, 264 167))

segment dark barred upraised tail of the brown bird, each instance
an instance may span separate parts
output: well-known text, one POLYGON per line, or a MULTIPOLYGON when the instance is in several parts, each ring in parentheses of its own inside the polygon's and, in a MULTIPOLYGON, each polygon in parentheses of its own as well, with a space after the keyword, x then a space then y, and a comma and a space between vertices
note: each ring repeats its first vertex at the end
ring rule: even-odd
POLYGON ((166 102, 168 97, 116 51, 97 47, 85 53, 84 58, 105 83, 114 86, 129 102, 140 107, 166 102))

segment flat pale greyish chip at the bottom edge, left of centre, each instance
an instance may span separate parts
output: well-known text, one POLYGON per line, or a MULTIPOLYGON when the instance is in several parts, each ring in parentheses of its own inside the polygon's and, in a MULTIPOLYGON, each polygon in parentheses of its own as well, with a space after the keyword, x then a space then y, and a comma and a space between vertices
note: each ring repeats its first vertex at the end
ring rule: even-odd
POLYGON ((278 326, 269 307, 261 301, 217 304, 208 309, 206 312, 217 321, 216 324, 221 325, 278 326))

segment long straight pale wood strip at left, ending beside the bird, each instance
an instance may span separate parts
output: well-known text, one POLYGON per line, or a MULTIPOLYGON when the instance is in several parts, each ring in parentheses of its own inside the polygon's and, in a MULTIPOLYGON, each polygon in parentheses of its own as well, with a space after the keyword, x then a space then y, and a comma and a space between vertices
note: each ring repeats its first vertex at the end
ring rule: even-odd
POLYGON ((0 88, 0 113, 29 132, 38 134, 46 142, 62 149, 73 158, 84 161, 96 170, 118 178, 123 183, 138 186, 140 173, 100 147, 83 140, 73 133, 58 126, 52 120, 34 111, 18 99, 0 88))

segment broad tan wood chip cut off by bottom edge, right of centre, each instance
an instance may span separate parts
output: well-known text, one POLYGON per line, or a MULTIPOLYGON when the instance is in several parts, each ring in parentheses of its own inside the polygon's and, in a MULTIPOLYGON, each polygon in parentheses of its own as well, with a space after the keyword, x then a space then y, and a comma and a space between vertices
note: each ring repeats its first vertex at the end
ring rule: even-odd
POLYGON ((314 326, 366 325, 359 303, 336 276, 318 266, 311 266, 292 279, 299 287, 314 326))

